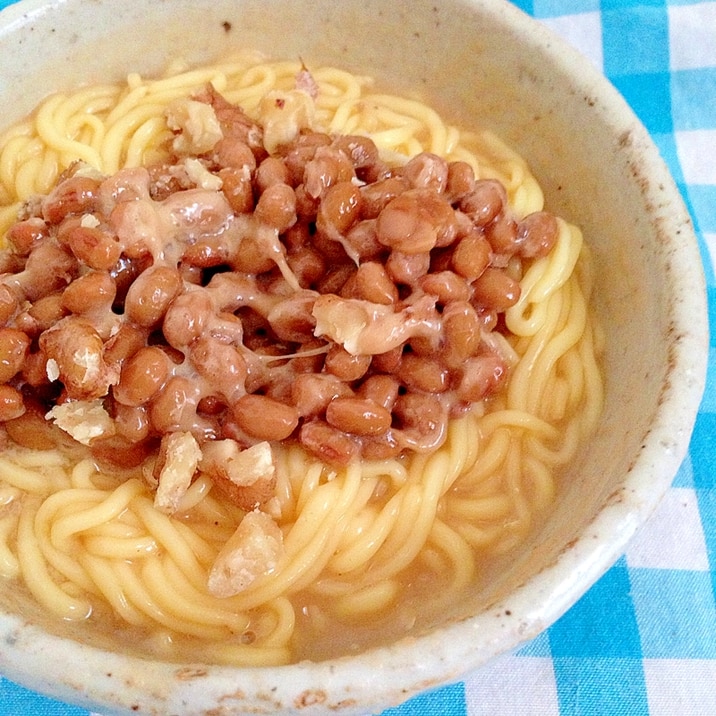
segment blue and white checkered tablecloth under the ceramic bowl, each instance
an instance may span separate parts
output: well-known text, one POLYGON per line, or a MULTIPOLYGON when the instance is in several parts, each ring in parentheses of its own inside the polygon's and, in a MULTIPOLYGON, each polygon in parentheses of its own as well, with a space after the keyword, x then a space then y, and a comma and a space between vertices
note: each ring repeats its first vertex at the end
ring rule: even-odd
MULTIPOLYGON (((0 8, 9 5, 0 0, 0 8)), ((390 716, 716 715, 716 2, 518 0, 651 132, 701 242, 712 338, 689 455, 619 562, 547 632, 390 716)), ((1 71, 1 70, 0 70, 1 71)), ((88 716, 0 677, 0 716, 88 716)))

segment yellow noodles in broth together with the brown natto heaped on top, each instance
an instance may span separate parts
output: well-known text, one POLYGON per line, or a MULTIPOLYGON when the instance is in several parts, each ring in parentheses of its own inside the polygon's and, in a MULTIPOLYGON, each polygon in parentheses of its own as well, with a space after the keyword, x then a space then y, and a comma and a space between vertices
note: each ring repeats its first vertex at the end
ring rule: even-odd
POLYGON ((543 204, 334 68, 49 97, 0 138, 3 578, 176 660, 429 624, 601 410, 588 249, 543 204))

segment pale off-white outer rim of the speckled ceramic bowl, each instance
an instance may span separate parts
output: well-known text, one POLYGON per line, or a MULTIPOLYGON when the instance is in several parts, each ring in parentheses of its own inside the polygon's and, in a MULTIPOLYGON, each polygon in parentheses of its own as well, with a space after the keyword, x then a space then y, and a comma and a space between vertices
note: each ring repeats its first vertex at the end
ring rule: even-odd
MULTIPOLYGON (((106 652, 62 637, 49 635, 23 623, 16 615, 0 614, 0 638, 6 648, 0 655, 0 668, 9 678, 50 696, 85 706, 114 708, 116 713, 137 713, 142 704, 148 712, 205 713, 212 704, 234 694, 231 703, 243 703, 237 685, 254 694, 270 694, 266 713, 322 713, 340 709, 360 713, 383 709, 407 698, 462 678, 493 658, 535 637, 567 611, 584 592, 623 554, 627 543, 646 522, 668 489, 686 456, 691 431, 705 387, 708 357, 708 313, 702 259, 691 219, 679 190, 656 145, 623 97, 592 63, 558 37, 552 30, 518 8, 500 0, 461 0, 465 6, 478 5, 496 22, 507 23, 530 35, 549 62, 580 75, 580 86, 597 87, 602 112, 614 118, 623 131, 631 132, 631 145, 625 151, 639 155, 653 179, 643 189, 647 201, 660 207, 662 231, 680 236, 681 246, 670 255, 672 271, 668 290, 679 300, 671 301, 671 323, 678 331, 672 351, 672 369, 664 384, 662 399, 618 496, 610 496, 594 520, 559 558, 531 577, 510 596, 485 612, 460 620, 432 632, 395 644, 325 662, 301 662, 280 667, 208 666, 190 674, 165 693, 158 684, 176 678, 180 665, 149 661, 106 652), (677 291, 688 285, 689 291, 677 291), (678 386, 678 389, 677 389, 678 386), (679 426, 674 430, 674 426, 679 426), (659 475, 653 476, 658 467, 659 475), (594 539, 609 532, 610 541, 594 539), (578 578, 575 578, 575 575, 578 578), (43 661, 36 657, 43 653, 43 661), (417 658, 416 658, 416 655, 417 658), (32 666, 28 668, 28 664, 32 666), (73 673, 96 677, 93 693, 84 684, 63 676, 67 663, 73 673), (376 665, 390 665, 389 669, 376 665), (144 673, 138 678, 137 668, 144 673), (132 669, 134 672, 132 673, 132 669), (251 671, 254 694, 239 684, 237 674, 251 671), (111 674, 111 675, 110 675, 111 674), (118 697, 117 684, 124 679, 129 693, 118 697), (133 684, 133 686, 132 686, 133 684), (310 684, 321 685, 311 689, 310 684), (145 689, 149 685, 147 696, 145 689), (154 691, 153 691, 154 689, 154 691), (306 701, 300 702, 304 694, 306 701), (324 698, 325 697, 325 698, 324 698), (299 700, 297 700, 299 699, 299 700)), ((0 11, 0 39, 21 26, 28 18, 64 4, 63 0, 21 0, 0 11)), ((565 69, 565 71, 567 71, 565 69)), ((79 677, 75 677, 79 680, 79 677)), ((240 712, 240 711, 237 711, 240 712)))

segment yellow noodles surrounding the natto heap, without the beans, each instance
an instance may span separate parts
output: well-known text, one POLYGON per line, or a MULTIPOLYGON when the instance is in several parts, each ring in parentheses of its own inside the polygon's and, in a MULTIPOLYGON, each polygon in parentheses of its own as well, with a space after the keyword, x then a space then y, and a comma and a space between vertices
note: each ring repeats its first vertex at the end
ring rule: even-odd
MULTIPOLYGON (((105 174, 162 159, 172 138, 164 112, 174 99, 211 82, 254 116, 268 91, 293 86, 301 67, 241 57, 179 69, 55 95, 6 131, 0 235, 23 202, 48 192, 77 159, 105 174)), ((542 208, 525 162, 493 135, 461 132, 419 101, 373 93, 367 78, 332 68, 313 78, 315 121, 325 131, 370 135, 396 163, 421 151, 466 161, 504 184, 517 215, 542 208)), ((504 349, 515 358, 507 389, 484 415, 451 421, 437 451, 337 469, 298 446, 276 447, 285 554, 240 593, 207 591, 208 572, 243 517, 210 480, 195 481, 169 517, 154 508, 141 469, 101 473, 77 457, 81 450, 10 447, 0 457, 0 574, 21 575, 62 619, 92 619, 104 601, 116 622, 155 632, 147 648, 246 665, 314 655, 300 643, 301 605, 318 625, 304 624, 310 640, 320 624, 330 633, 335 620, 394 613, 418 571, 427 575, 418 582, 435 585, 434 606, 457 598, 481 560, 513 548, 542 519, 560 469, 601 410, 589 254, 576 227, 559 221, 555 248, 532 263, 521 289, 505 315, 512 335, 504 349)))

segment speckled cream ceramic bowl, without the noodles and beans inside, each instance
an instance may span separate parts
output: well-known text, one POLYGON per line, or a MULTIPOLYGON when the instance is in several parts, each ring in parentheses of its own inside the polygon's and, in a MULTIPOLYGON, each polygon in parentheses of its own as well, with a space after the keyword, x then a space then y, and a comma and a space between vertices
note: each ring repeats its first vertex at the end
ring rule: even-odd
POLYGON ((25 0, 0 12, 0 122, 54 90, 241 46, 418 90, 515 146, 593 248, 606 408, 555 514, 489 598, 419 638, 325 663, 177 665, 50 633, 0 585, 0 672, 105 714, 357 714, 459 679, 546 628, 618 558, 678 469, 703 390, 701 262, 672 179, 616 91, 500 0, 25 0))

